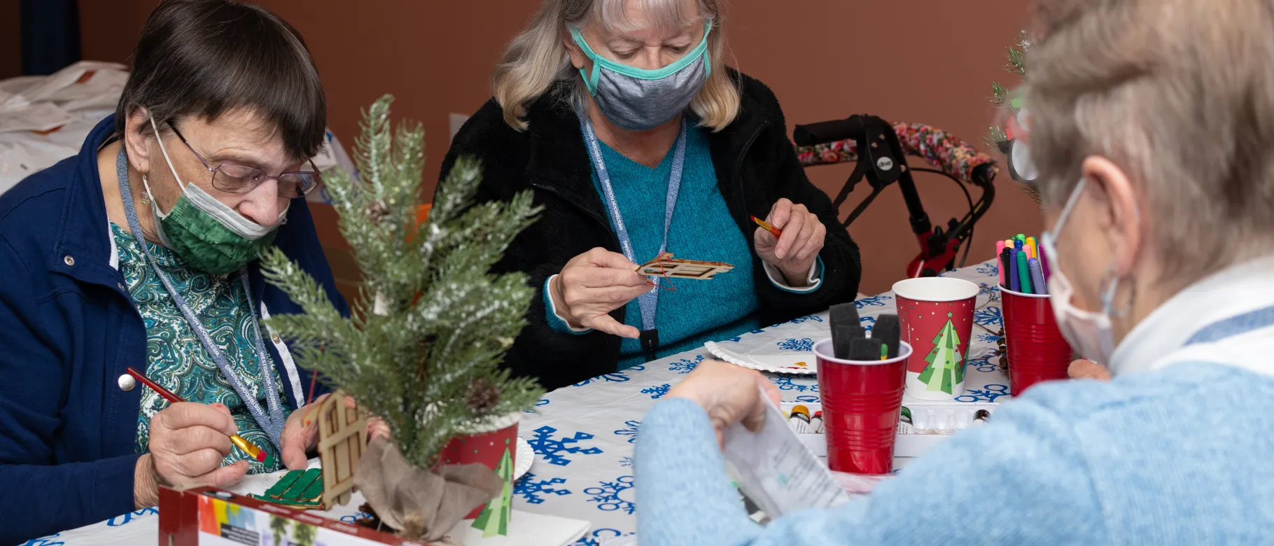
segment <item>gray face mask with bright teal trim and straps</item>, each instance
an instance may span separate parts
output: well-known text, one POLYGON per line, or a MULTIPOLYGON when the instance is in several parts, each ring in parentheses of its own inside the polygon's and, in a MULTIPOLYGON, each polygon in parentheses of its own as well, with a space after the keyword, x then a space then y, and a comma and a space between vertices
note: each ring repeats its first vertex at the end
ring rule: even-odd
POLYGON ((575 43, 592 60, 592 74, 580 75, 596 101, 598 108, 612 123, 629 131, 656 127, 682 113, 712 73, 708 62, 708 32, 703 41, 684 57, 659 70, 637 69, 603 57, 589 47, 580 29, 572 28, 575 43))

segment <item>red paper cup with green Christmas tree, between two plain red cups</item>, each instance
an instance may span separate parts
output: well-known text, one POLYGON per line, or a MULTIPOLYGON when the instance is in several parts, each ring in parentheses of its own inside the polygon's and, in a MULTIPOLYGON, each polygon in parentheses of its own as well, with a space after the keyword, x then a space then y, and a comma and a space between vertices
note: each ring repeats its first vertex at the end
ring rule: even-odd
POLYGON ((954 400, 964 393, 977 291, 967 280, 936 276, 893 284, 902 339, 916 350, 907 363, 907 396, 954 400))

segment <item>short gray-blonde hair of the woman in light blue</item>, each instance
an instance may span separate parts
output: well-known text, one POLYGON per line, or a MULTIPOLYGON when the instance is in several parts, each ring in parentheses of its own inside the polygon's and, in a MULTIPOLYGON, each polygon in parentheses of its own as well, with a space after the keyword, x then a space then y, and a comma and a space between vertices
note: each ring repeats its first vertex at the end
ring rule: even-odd
POLYGON ((1140 190, 1166 276, 1274 249, 1274 1, 1040 0, 1027 52, 1046 204, 1102 155, 1140 190))

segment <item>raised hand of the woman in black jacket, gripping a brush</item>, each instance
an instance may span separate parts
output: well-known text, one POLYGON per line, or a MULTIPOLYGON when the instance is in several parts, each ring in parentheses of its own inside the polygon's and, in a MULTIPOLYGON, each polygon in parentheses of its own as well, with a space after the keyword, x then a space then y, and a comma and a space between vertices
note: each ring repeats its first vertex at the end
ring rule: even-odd
POLYGON ((805 205, 794 205, 787 199, 775 202, 766 223, 784 232, 784 235, 776 239, 769 232, 757 228, 753 234, 757 256, 778 267, 787 279, 787 285, 808 285, 809 269, 823 249, 827 227, 805 205))

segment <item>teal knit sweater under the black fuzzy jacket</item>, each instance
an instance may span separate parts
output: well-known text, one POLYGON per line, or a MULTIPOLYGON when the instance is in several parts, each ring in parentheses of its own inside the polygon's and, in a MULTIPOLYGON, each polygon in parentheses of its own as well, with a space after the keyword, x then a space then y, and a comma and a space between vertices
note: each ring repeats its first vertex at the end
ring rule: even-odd
MULTIPOLYGON (((650 168, 604 143, 599 144, 637 261, 652 260, 659 253, 664 237, 673 150, 668 151, 659 167, 650 168)), ((592 173, 592 185, 600 195, 601 182, 596 172, 592 173)), ((610 229, 614 229, 614 219, 610 229)), ((673 224, 668 229, 668 252, 685 260, 733 263, 734 270, 706 281, 674 279, 671 284, 676 286, 675 291, 660 290, 659 308, 655 312, 660 340, 656 356, 682 353, 705 341, 757 330, 757 321, 749 318, 758 307, 752 284, 752 241, 730 218, 725 199, 717 190, 708 137, 703 130, 693 126, 687 135, 682 188, 673 210, 673 224)), ((661 279, 661 283, 668 280, 661 279)), ((554 314, 547 286, 544 298, 549 325, 559 332, 571 332, 566 322, 554 314)), ((641 308, 636 299, 628 302, 624 309, 624 323, 642 330, 641 308)), ((631 368, 645 360, 641 342, 624 339, 618 368, 631 368)))

